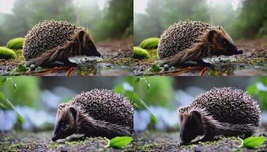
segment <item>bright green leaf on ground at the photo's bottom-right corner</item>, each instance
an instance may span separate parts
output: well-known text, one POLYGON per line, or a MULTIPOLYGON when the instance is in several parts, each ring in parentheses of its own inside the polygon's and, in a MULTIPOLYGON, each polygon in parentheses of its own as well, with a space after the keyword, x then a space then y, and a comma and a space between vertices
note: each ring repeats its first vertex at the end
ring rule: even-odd
POLYGON ((263 136, 251 136, 246 138, 243 141, 242 147, 247 147, 250 149, 255 149, 257 148, 259 145, 261 145, 262 143, 264 143, 264 141, 266 141, 266 138, 263 136))

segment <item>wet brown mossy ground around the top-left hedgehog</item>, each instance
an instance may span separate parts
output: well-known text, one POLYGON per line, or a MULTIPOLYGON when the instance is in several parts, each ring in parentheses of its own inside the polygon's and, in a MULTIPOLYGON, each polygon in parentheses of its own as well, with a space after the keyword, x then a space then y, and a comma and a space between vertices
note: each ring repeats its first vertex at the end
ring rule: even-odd
MULTIPOLYGON (((102 57, 95 61, 88 59, 88 61, 85 60, 72 67, 55 64, 52 67, 36 67, 35 70, 30 70, 30 67, 18 70, 19 65, 25 64, 24 58, 20 55, 12 61, 0 60, 0 75, 133 75, 132 45, 132 37, 98 42, 96 47, 102 57)), ((16 54, 19 53, 21 54, 21 50, 16 54)))

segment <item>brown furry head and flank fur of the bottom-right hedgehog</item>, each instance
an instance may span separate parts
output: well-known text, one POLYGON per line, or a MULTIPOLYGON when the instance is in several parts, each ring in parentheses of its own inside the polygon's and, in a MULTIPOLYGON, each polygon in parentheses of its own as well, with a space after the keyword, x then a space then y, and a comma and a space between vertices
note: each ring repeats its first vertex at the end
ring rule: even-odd
POLYGON ((180 119, 181 144, 188 143, 198 135, 205 135, 200 141, 207 141, 216 135, 249 137, 258 129, 254 124, 230 124, 219 122, 209 115, 205 109, 192 108, 190 110, 178 109, 180 119), (186 134, 186 136, 183 136, 186 134))

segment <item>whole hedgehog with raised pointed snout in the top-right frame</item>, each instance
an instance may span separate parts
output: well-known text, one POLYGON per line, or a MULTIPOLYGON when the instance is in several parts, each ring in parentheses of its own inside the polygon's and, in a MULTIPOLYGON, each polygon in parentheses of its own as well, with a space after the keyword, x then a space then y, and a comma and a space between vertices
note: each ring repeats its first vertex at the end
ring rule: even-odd
POLYGON ((160 37, 158 54, 162 63, 181 65, 193 61, 205 65, 202 58, 242 54, 232 38, 220 26, 201 21, 179 21, 160 37))

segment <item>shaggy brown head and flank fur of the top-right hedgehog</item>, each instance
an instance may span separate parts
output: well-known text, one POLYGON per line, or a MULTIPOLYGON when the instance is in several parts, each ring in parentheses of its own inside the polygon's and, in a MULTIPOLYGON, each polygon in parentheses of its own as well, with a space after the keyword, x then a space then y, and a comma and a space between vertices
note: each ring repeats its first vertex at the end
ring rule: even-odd
MULTIPOLYGON (((191 48, 180 51, 172 57, 163 59, 162 63, 170 65, 182 64, 187 61, 196 61, 198 64, 203 64, 202 58, 213 55, 228 55, 228 51, 218 39, 226 39, 235 47, 232 38, 226 33, 222 27, 216 27, 207 31, 201 38, 200 42, 195 43, 191 48)), ((233 55, 230 52, 229 55, 233 55)))

